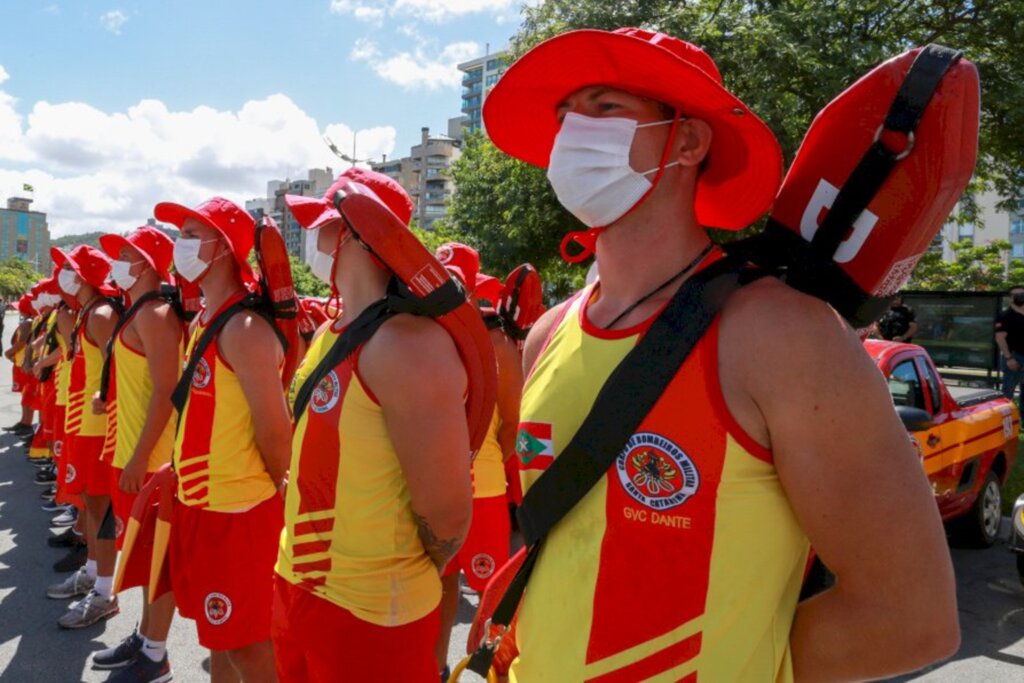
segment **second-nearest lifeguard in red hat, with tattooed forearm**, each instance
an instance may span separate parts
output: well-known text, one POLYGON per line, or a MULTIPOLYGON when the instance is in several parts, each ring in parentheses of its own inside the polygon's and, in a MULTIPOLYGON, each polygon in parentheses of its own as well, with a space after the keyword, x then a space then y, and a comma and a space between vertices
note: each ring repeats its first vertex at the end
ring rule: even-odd
MULTIPOLYGON (((387 319, 340 362, 330 359, 401 281, 386 265, 404 256, 389 250, 403 244, 398 232, 409 232, 413 212, 397 182, 353 168, 323 200, 286 201, 310 231, 313 272, 344 307, 312 342, 295 379, 297 395, 309 398, 295 407, 276 566, 279 676, 437 681, 438 574, 462 545, 471 515, 467 373, 445 330, 410 314, 387 319), (356 238, 342 219, 334 199, 349 183, 372 191, 386 207, 382 214, 393 214, 380 228, 394 231, 385 236, 393 243, 356 238), (323 379, 306 387, 317 371, 323 379)), ((431 265, 444 272, 415 246, 424 272, 431 265)))

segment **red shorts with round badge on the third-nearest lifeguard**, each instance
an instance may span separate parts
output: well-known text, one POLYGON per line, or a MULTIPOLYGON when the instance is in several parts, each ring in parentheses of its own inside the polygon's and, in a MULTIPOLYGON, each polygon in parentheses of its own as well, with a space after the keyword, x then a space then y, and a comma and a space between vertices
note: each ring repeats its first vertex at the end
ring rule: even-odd
POLYGON ((233 650, 270 637, 273 565, 284 525, 281 496, 246 512, 175 502, 171 586, 178 611, 196 620, 200 645, 233 650))

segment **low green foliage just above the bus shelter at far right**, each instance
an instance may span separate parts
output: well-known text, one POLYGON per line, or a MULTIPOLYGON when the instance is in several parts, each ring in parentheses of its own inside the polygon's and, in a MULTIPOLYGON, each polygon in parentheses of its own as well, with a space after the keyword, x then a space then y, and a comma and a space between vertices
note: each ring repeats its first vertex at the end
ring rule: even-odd
POLYGON ((1005 292, 1024 285, 1024 261, 1010 258, 1010 243, 997 240, 975 247, 970 242, 952 245, 953 260, 928 252, 918 263, 907 290, 944 292, 1005 292))

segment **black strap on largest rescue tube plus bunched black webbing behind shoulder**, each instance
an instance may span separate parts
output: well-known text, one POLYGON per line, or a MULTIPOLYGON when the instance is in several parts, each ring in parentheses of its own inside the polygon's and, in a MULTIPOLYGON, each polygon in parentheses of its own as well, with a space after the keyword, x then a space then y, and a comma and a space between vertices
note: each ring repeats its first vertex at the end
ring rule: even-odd
POLYGON ((892 170, 910 154, 914 131, 925 110, 946 72, 962 56, 961 51, 942 45, 922 48, 900 84, 874 141, 843 183, 810 242, 769 217, 764 231, 725 245, 726 250, 776 271, 794 289, 827 301, 854 328, 867 327, 878 319, 889 308, 890 297, 862 291, 833 257, 892 170), (884 139, 886 132, 905 139, 903 148, 890 148, 884 139))

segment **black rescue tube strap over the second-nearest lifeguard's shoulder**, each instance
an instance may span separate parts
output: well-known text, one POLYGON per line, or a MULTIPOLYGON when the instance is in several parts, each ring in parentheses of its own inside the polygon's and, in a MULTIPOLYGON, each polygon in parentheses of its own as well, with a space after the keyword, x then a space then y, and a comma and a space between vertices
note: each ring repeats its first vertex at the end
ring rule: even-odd
POLYGON ((312 397, 313 389, 339 364, 350 356, 355 349, 370 341, 382 325, 398 313, 438 317, 450 313, 466 301, 465 292, 454 280, 437 288, 425 297, 417 297, 401 281, 392 278, 387 295, 370 304, 359 313, 331 345, 327 354, 306 376, 295 394, 292 419, 298 422, 312 397))

